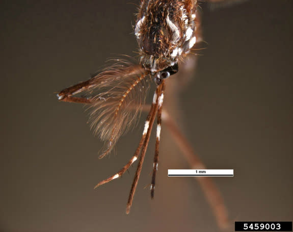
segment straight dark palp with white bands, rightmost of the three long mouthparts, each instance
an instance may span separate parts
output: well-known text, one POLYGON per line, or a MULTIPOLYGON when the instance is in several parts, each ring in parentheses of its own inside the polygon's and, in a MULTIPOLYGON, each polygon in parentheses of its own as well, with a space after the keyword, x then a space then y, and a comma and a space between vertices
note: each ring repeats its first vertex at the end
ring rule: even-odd
POLYGON ((164 90, 165 90, 165 84, 162 84, 162 92, 161 95, 158 97, 158 110, 157 110, 157 126, 156 126, 156 141, 155 141, 155 152, 154 152, 154 158, 153 158, 153 171, 152 171, 152 178, 151 178, 151 187, 150 187, 150 194, 151 198, 154 196, 154 187, 155 187, 155 175, 157 171, 157 165, 158 165, 158 152, 159 152, 159 140, 161 135, 161 122, 162 122, 162 105, 164 100, 164 90))

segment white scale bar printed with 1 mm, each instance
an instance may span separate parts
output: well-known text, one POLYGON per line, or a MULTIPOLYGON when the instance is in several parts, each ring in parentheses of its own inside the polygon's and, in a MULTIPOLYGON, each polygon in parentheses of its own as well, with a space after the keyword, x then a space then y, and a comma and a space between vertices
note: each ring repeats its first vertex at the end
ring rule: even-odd
POLYGON ((234 176, 234 169, 168 169, 168 176, 234 176))

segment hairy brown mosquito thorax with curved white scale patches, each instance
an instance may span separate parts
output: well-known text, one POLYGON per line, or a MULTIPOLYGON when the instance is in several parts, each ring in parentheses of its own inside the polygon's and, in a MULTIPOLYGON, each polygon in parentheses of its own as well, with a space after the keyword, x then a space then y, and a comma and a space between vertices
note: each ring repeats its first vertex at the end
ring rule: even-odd
POLYGON ((135 35, 140 63, 152 74, 171 67, 197 42, 197 1, 142 1, 135 35))

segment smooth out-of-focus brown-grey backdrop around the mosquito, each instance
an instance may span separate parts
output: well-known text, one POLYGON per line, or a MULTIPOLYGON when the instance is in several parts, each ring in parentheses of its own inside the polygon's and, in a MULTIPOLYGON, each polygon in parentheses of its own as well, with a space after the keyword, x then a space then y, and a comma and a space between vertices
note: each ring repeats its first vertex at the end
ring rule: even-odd
MULTIPOLYGON (((82 105, 55 96, 109 57, 137 56, 131 27, 137 6, 129 2, 139 4, 1 2, 1 231, 219 230, 195 179, 167 176, 168 168, 189 166, 164 124, 153 200, 144 187, 154 134, 129 215, 135 167, 93 190, 132 156, 142 126, 120 139, 116 154, 98 160, 102 143, 82 105)), ((174 116, 207 168, 234 169, 234 177, 214 178, 232 223, 292 220, 293 3, 202 8, 207 49, 199 52, 191 83, 174 92, 174 116)))

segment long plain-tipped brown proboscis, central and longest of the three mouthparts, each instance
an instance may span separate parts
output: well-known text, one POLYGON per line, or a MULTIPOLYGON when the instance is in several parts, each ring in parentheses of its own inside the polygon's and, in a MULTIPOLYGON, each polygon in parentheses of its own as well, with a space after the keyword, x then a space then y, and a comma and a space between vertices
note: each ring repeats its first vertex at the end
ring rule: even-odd
MULTIPOLYGON (((163 81, 162 85, 163 84, 164 84, 164 81, 163 81)), ((151 133, 153 122, 154 122, 154 119, 155 119, 155 115, 156 115, 156 112, 157 112, 157 109, 158 109, 158 96, 161 95, 162 85, 159 85, 156 88, 156 91, 155 91, 154 96, 153 96, 153 102, 152 102, 152 105, 151 105, 151 109, 154 108, 154 111, 149 112, 149 114, 147 116, 147 119, 146 119, 146 122, 145 122, 145 130, 143 131, 143 136, 145 135, 145 140, 144 140, 144 143, 143 143, 143 146, 142 146, 142 153, 141 153, 140 161, 139 161, 137 171, 136 171, 136 174, 135 174, 135 177, 134 177, 134 181, 132 182, 132 185, 131 185, 131 189, 130 189, 130 193, 129 193, 129 197, 128 197, 128 201, 127 201, 127 205, 126 205, 126 214, 129 214, 130 207, 131 207, 131 204, 132 204, 132 200, 134 199, 134 194, 135 194, 137 184, 138 184, 138 180, 139 180, 139 177, 140 177, 140 173, 141 173, 141 170, 142 170, 142 164, 143 164, 144 157, 145 157, 145 154, 146 154, 146 149, 147 149, 147 146, 148 146, 150 133, 151 133)))

